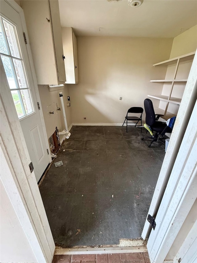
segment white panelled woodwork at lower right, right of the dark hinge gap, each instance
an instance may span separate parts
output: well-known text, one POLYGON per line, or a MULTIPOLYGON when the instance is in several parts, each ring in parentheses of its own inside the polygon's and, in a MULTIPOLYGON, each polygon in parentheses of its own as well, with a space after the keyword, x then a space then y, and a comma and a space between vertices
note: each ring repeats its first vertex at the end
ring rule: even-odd
MULTIPOLYGON (((151 262, 163 262, 165 260, 197 199, 196 116, 197 101, 155 218, 156 227, 154 231, 151 231, 147 242, 151 262)), ((179 239, 181 239, 180 236, 179 239)))

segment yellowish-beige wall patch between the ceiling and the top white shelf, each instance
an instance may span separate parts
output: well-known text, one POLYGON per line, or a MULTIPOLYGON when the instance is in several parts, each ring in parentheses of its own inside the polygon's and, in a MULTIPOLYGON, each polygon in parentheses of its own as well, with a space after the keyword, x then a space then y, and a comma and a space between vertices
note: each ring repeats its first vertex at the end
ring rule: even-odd
POLYGON ((170 58, 184 55, 197 48, 197 25, 174 38, 170 58))

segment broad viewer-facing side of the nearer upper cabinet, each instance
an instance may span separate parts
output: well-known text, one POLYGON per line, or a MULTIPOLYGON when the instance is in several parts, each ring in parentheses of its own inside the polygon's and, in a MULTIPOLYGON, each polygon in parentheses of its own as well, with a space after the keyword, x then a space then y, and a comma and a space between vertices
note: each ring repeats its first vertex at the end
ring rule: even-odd
POLYGON ((22 1, 38 84, 58 84, 48 1, 22 1), (47 19, 46 19, 47 18, 47 19))

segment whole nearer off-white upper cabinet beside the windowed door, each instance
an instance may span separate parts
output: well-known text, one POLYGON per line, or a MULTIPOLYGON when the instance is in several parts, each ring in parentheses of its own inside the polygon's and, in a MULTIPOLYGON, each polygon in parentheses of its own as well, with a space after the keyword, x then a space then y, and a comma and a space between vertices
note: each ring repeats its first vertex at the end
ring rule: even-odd
POLYGON ((38 84, 66 81, 58 0, 24 0, 22 8, 38 84))

